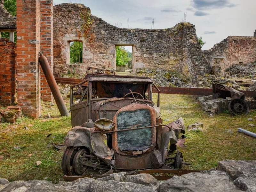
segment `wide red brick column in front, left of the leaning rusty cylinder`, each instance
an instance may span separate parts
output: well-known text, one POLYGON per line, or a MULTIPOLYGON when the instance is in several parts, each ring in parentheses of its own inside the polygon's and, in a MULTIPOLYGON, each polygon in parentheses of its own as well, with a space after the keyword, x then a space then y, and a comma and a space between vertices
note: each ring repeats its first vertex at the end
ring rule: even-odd
POLYGON ((40 116, 40 0, 17 0, 17 93, 23 113, 40 116))

